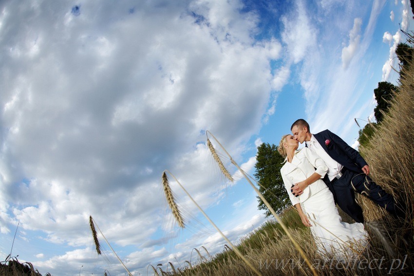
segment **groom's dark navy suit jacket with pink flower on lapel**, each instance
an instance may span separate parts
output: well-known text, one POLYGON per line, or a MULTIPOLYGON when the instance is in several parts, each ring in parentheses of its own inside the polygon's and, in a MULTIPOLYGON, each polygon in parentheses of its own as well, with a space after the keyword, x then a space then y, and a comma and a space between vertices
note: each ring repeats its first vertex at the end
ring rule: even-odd
POLYGON ((328 129, 313 135, 329 156, 347 169, 361 173, 362 167, 368 165, 358 150, 350 147, 338 135, 328 129), (329 140, 329 145, 325 144, 326 140, 329 140))

